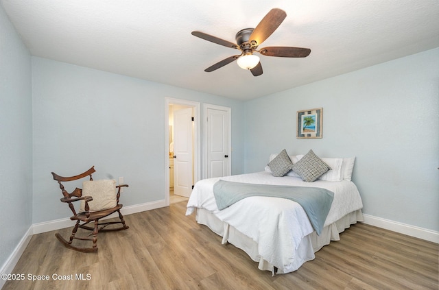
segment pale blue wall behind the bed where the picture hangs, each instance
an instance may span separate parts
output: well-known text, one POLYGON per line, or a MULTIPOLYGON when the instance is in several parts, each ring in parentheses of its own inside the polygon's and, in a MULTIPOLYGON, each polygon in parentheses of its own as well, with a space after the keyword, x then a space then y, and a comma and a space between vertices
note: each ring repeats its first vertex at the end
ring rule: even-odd
POLYGON ((246 172, 284 147, 356 156, 364 213, 439 231, 439 49, 254 99, 245 110, 246 172), (319 107, 323 138, 296 139, 296 112, 319 107))

